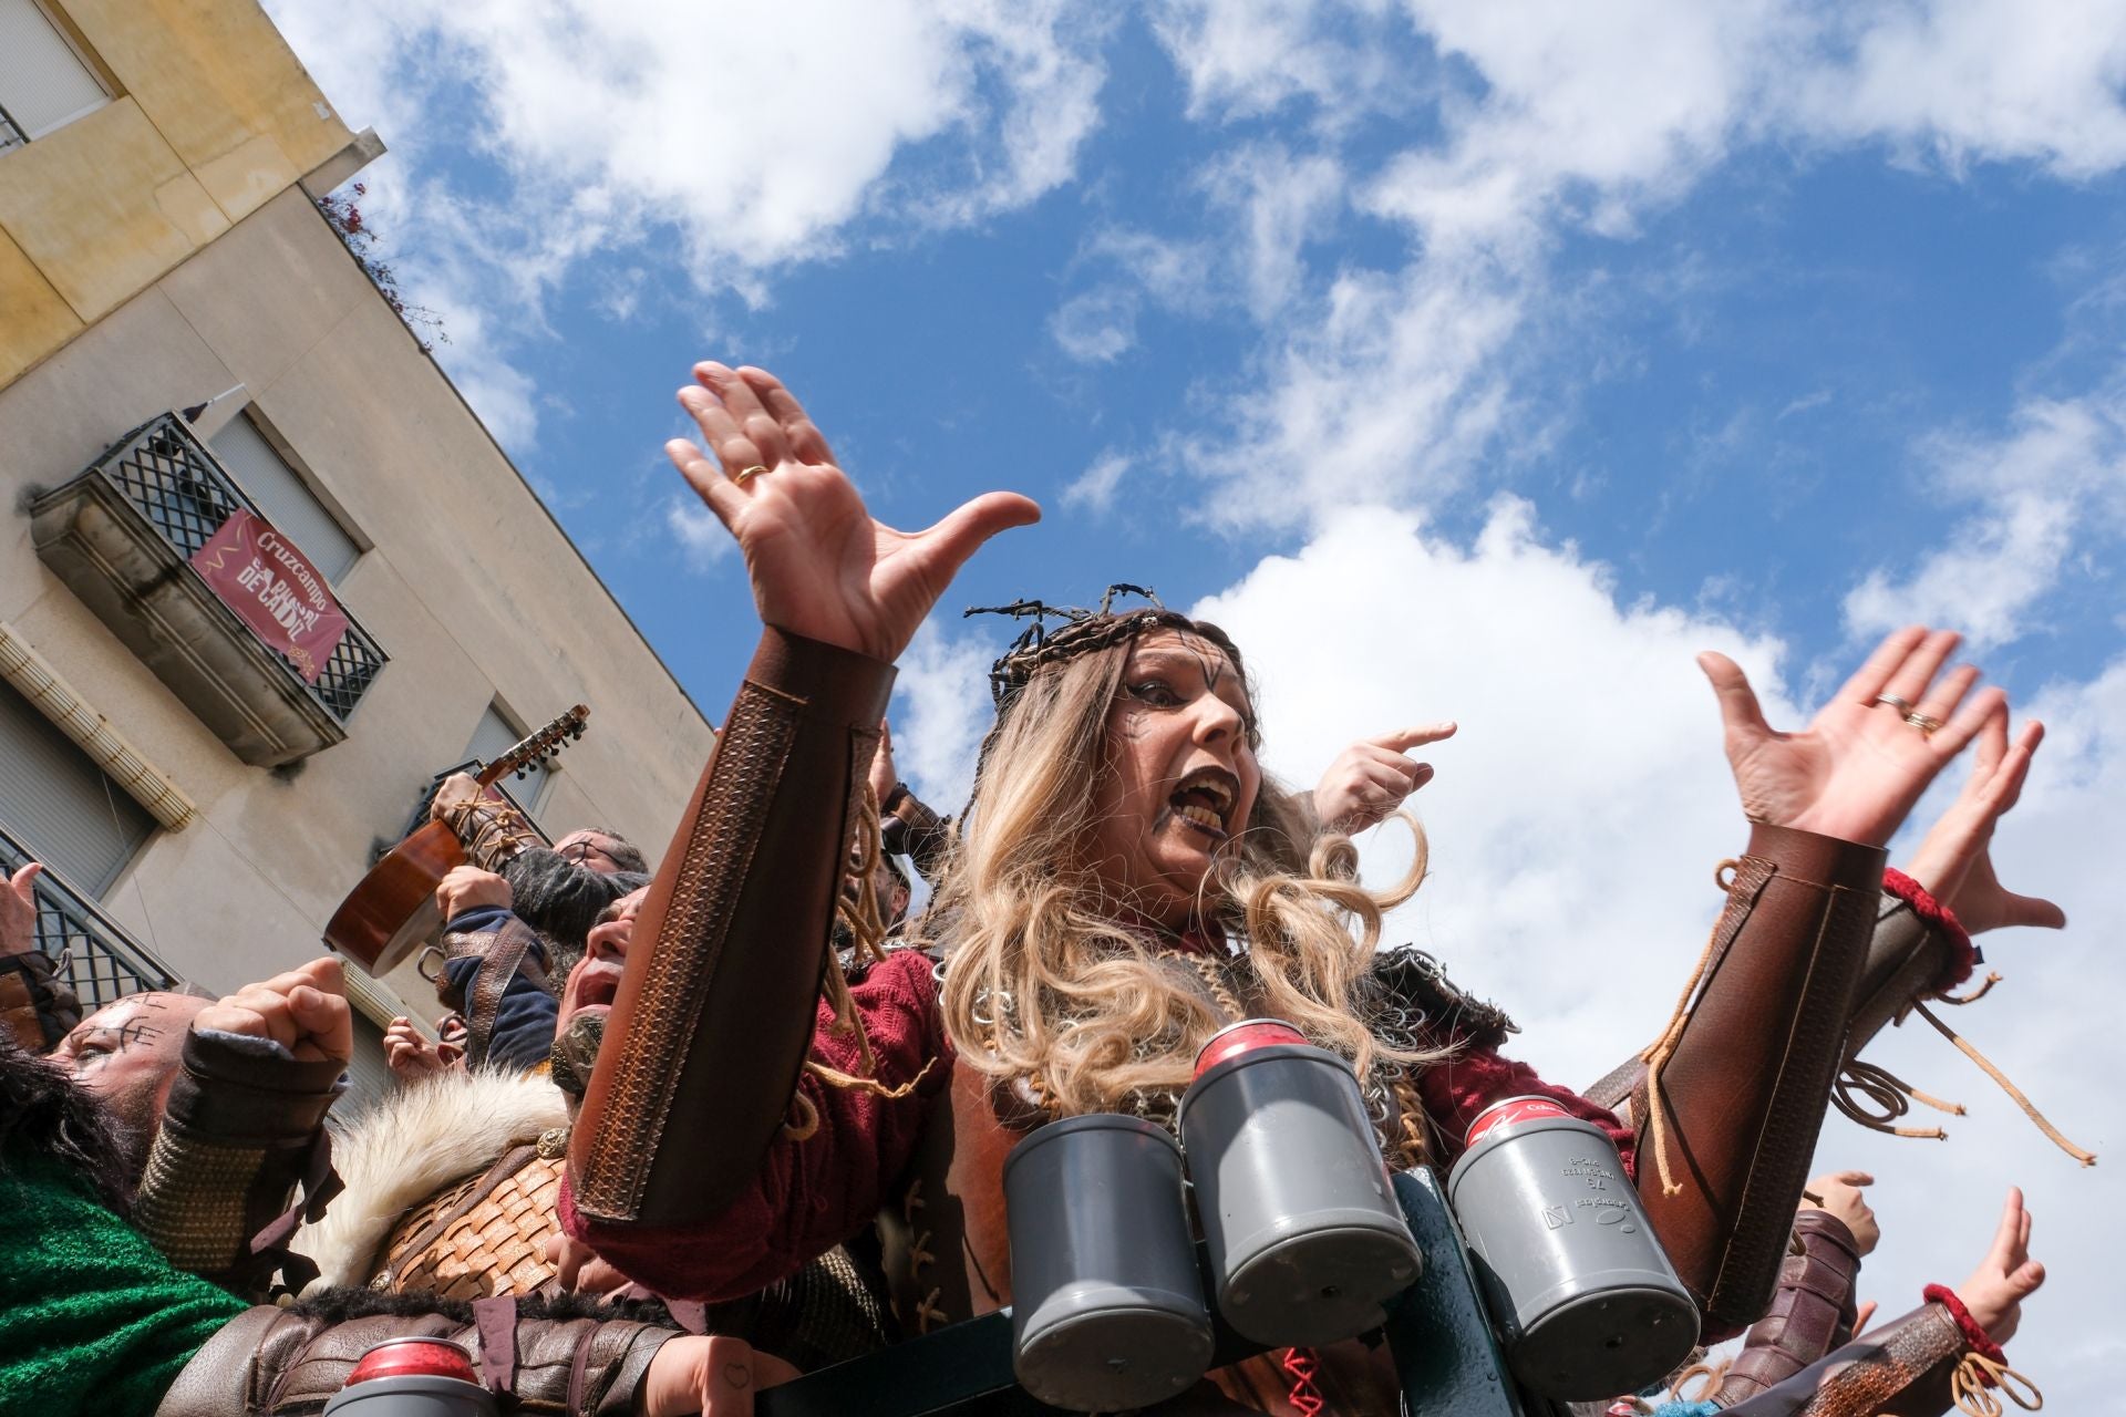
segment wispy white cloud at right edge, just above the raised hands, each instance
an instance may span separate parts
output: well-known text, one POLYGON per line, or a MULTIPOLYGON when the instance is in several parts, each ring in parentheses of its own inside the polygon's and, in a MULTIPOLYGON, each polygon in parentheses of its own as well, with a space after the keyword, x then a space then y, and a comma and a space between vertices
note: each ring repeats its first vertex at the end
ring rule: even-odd
POLYGON ((1854 635, 1933 622, 1975 646, 2045 629, 2030 608, 2052 591, 2077 544, 2126 525, 2126 399, 2028 399, 2003 438, 1937 436, 1924 448, 1920 495, 1975 503, 1939 550, 1903 580, 1873 569, 1845 597, 1854 635))

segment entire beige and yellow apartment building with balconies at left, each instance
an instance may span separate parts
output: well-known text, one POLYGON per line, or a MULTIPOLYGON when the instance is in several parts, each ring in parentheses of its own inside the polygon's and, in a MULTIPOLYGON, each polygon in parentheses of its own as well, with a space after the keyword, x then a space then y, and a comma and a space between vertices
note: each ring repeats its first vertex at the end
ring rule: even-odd
MULTIPOLYGON (((510 784, 553 835, 657 854, 710 750, 319 210, 381 151, 255 0, 0 0, 0 863, 91 998, 313 958, 438 771, 572 703, 510 784)), ((353 992, 374 1077, 434 990, 353 992)))

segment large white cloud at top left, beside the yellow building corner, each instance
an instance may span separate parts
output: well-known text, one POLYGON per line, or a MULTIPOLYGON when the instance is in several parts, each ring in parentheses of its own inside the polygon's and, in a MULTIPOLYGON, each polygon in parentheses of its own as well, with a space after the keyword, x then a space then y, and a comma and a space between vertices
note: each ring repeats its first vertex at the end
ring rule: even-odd
MULTIPOLYGON (((415 253, 408 295, 444 308, 453 346, 470 308, 510 314, 478 355, 442 348, 483 395, 551 334, 544 295, 587 255, 655 257, 761 304, 767 272, 833 255, 859 219, 963 225, 1069 181, 1106 79, 1106 21, 1061 0, 270 8, 347 121, 393 149, 366 176, 415 253), (497 193, 438 172, 463 149, 495 164, 497 193)), ((529 442, 527 404, 476 406, 529 442)))

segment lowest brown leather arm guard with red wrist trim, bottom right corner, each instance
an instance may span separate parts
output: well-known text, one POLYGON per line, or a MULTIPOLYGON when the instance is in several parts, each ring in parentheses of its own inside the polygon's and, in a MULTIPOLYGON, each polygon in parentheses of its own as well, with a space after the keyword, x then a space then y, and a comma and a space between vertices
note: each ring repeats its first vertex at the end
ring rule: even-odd
POLYGON ((1979 1387, 1996 1377, 2037 1396, 2022 1375, 2001 1364, 1992 1341, 1975 1343, 1947 1302, 1930 1300, 1728 1411, 1735 1417, 1941 1417, 1960 1383, 1979 1387))

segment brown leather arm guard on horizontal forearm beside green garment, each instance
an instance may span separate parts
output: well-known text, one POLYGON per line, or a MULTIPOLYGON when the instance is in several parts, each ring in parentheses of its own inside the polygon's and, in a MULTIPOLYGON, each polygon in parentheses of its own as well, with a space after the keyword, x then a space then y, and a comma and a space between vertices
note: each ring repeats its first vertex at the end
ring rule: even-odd
POLYGON ((155 1417, 317 1413, 370 1347, 400 1336, 451 1338, 474 1349, 483 1381, 517 1398, 504 1411, 627 1417, 651 1358, 674 1336, 648 1324, 510 1321, 506 1311, 500 1324, 491 1313, 483 1317, 489 1321, 459 1324, 434 1313, 332 1321, 293 1309, 251 1309, 185 1364, 155 1417))

